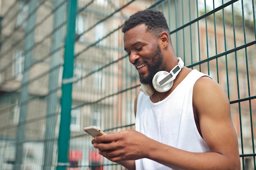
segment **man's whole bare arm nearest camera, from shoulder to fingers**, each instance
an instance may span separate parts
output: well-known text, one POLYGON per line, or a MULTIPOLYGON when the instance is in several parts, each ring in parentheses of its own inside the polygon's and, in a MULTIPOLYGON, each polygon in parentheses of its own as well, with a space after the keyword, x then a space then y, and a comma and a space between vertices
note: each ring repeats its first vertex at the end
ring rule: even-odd
POLYGON ((200 130, 210 148, 207 153, 180 150, 146 137, 135 130, 103 135, 95 144, 99 153, 111 161, 148 158, 182 170, 240 170, 238 141, 230 117, 229 100, 222 88, 209 77, 200 78, 193 90, 193 107, 200 130))

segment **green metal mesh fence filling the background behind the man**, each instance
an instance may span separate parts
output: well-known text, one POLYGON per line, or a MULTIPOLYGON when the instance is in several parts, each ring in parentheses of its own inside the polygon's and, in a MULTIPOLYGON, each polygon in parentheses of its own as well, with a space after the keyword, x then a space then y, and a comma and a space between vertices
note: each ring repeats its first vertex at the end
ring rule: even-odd
POLYGON ((241 168, 256 168, 254 0, 0 1, 0 170, 124 169, 98 155, 86 126, 135 128, 137 71, 121 32, 163 11, 185 66, 211 75, 231 104, 241 168), (61 116, 60 116, 61 115, 61 116))

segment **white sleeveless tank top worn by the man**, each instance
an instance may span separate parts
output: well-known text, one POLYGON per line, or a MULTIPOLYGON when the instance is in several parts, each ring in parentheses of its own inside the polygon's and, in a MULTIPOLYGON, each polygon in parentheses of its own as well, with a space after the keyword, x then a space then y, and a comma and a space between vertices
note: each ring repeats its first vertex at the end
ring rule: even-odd
MULTIPOLYGON (((149 96, 139 93, 135 130, 163 144, 189 152, 209 152, 200 136, 193 113, 193 86, 202 76, 191 71, 164 100, 153 103, 149 96)), ((136 170, 172 170, 150 159, 135 160, 136 170)))

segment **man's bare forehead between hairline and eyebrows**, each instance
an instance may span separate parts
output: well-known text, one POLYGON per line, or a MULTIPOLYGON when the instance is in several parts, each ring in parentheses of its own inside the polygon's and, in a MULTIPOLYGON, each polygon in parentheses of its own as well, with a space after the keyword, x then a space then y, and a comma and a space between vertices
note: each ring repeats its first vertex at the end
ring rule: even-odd
POLYGON ((140 24, 124 33, 124 47, 130 46, 137 42, 150 42, 152 41, 153 34, 146 32, 146 25, 140 24))

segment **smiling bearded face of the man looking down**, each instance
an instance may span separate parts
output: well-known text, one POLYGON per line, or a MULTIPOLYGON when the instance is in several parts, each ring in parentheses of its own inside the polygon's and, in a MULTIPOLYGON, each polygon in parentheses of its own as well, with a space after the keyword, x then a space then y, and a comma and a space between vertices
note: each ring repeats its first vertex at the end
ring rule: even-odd
POLYGON ((152 84, 155 73, 166 69, 158 41, 152 33, 146 32, 144 24, 124 33, 124 49, 137 68, 142 84, 152 84))

